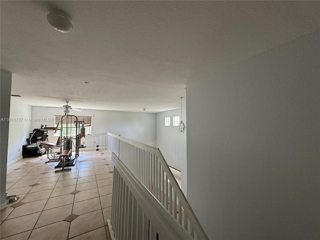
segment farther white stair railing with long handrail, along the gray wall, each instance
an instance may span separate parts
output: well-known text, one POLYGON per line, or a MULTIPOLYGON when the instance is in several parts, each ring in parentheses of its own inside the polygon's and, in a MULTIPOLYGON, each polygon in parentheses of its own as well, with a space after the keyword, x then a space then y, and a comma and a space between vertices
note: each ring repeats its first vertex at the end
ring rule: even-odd
POLYGON ((114 152, 179 225, 193 239, 208 239, 160 150, 109 132, 107 137, 109 151, 114 152))

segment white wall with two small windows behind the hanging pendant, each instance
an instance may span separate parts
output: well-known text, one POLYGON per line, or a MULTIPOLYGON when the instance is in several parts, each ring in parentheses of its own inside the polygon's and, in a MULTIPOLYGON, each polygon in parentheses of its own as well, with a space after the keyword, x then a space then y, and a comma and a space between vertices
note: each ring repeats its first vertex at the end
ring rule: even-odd
MULTIPOLYGON (((177 130, 177 126, 173 126, 173 116, 180 116, 180 114, 180 109, 163 111, 156 114, 156 147, 160 149, 168 165, 181 171, 181 189, 186 195, 187 129, 184 133, 180 133, 177 130), (170 117, 170 126, 164 126, 164 117, 170 117)), ((185 107, 182 108, 182 120, 187 125, 185 121, 185 107)))

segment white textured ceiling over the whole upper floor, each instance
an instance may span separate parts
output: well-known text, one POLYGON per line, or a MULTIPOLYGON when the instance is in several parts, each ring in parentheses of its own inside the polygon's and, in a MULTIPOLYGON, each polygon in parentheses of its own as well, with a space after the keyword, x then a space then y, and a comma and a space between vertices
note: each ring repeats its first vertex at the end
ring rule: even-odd
POLYGON ((160 112, 185 85, 320 27, 319 1, 0 1, 1 69, 30 105, 160 112), (72 19, 69 33, 46 21, 72 19), (84 84, 83 81, 89 81, 84 84))

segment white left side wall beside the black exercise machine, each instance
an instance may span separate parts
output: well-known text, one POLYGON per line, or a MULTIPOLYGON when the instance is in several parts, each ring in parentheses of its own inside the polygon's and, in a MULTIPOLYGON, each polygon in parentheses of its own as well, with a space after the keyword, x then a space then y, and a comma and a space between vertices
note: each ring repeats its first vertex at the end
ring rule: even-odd
POLYGON ((9 122, 9 140, 7 164, 22 158, 22 145, 25 145, 29 137, 31 122, 31 106, 14 99, 11 96, 9 122))

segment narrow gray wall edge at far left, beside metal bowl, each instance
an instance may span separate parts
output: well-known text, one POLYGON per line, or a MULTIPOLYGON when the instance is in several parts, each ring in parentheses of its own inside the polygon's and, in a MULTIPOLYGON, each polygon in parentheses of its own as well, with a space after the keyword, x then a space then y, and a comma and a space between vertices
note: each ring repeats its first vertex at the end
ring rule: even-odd
MULTIPOLYGON (((11 94, 12 73, 2 70, 0 73, 0 118, 9 118, 10 94, 11 94)), ((5 203, 5 184, 6 184, 6 162, 8 149, 9 121, 0 121, 0 208, 6 206, 5 203)))

